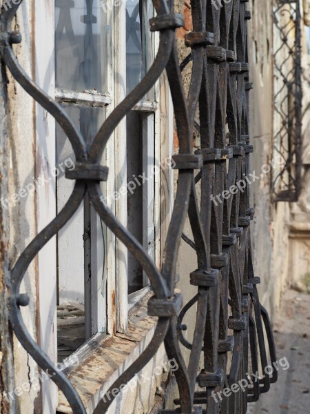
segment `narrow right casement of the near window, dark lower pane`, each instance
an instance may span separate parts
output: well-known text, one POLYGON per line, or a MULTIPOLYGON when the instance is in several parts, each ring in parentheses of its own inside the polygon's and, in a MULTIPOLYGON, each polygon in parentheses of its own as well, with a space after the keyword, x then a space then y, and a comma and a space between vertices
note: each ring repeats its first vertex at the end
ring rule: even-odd
MULTIPOLYGON (((154 34, 148 21, 154 16, 152 1, 126 3, 126 86, 131 92, 154 61, 154 34), (152 37, 153 36, 153 37, 152 37)), ((127 228, 154 257, 154 135, 156 124, 152 109, 157 107, 156 88, 126 117, 127 132, 127 228)), ((157 133, 158 135, 158 133, 157 133)), ((128 253, 128 293, 148 284, 141 266, 128 253)))

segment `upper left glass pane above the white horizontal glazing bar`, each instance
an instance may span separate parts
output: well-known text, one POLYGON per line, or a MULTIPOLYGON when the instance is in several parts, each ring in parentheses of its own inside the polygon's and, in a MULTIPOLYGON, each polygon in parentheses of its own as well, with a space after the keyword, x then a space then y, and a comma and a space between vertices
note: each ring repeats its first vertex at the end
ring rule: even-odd
POLYGON ((56 87, 105 92, 106 13, 100 0, 56 0, 56 87))

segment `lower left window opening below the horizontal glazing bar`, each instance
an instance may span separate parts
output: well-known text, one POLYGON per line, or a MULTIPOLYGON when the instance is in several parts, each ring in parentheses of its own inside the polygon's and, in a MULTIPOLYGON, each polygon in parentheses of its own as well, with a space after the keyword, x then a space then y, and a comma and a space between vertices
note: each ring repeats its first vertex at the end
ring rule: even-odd
MULTIPOLYGON (((92 108, 89 106, 65 106, 70 118, 80 126, 83 136, 90 144, 98 130, 99 124, 105 119, 105 108, 92 108)), ((74 168, 75 157, 68 137, 63 130, 56 127, 56 210, 57 213, 65 206, 70 197, 75 181, 65 178, 65 168, 74 168)), ((103 239, 102 232, 94 226, 94 212, 90 201, 85 197, 74 216, 59 230, 57 237, 57 341, 59 362, 68 357, 90 337, 89 306, 90 303, 90 277, 85 278, 85 272, 92 268, 91 255, 96 254, 96 246, 87 244, 89 237, 103 239), (87 284, 85 283, 87 280, 87 284), (87 291, 86 291, 87 289, 87 291), (85 308, 86 304, 86 308, 85 308)), ((104 244, 104 241, 103 241, 104 244)), ((104 253, 97 254, 96 264, 103 268, 104 253), (99 262, 102 263, 99 263, 99 262)), ((103 292, 105 295, 105 292, 103 292)))

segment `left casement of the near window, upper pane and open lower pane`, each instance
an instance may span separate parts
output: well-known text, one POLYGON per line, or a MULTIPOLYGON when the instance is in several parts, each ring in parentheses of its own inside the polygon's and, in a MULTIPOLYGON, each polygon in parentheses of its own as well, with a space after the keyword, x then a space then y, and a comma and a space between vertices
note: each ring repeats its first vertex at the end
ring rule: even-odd
MULTIPOLYGON (((105 120, 105 106, 111 102, 106 89, 106 14, 99 0, 59 0, 55 6, 56 98, 87 144, 91 144, 105 120)), ((56 165, 63 161, 74 165, 75 159, 68 138, 58 126, 56 165)), ((57 212, 65 205, 73 186, 74 181, 64 174, 57 177, 57 212)), ((105 321, 99 319, 106 297, 102 286, 104 243, 105 230, 86 195, 83 206, 57 239, 59 359, 68 357, 92 334, 105 331, 105 321), (93 290, 102 295, 94 298, 93 290)))

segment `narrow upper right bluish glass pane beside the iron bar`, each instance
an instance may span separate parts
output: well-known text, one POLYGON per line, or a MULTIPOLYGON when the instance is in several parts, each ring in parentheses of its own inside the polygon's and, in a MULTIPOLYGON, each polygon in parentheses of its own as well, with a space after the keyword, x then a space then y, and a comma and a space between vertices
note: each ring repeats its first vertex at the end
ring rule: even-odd
POLYGON ((154 61, 154 32, 149 31, 149 19, 154 16, 151 0, 126 2, 127 93, 145 77, 154 61))

